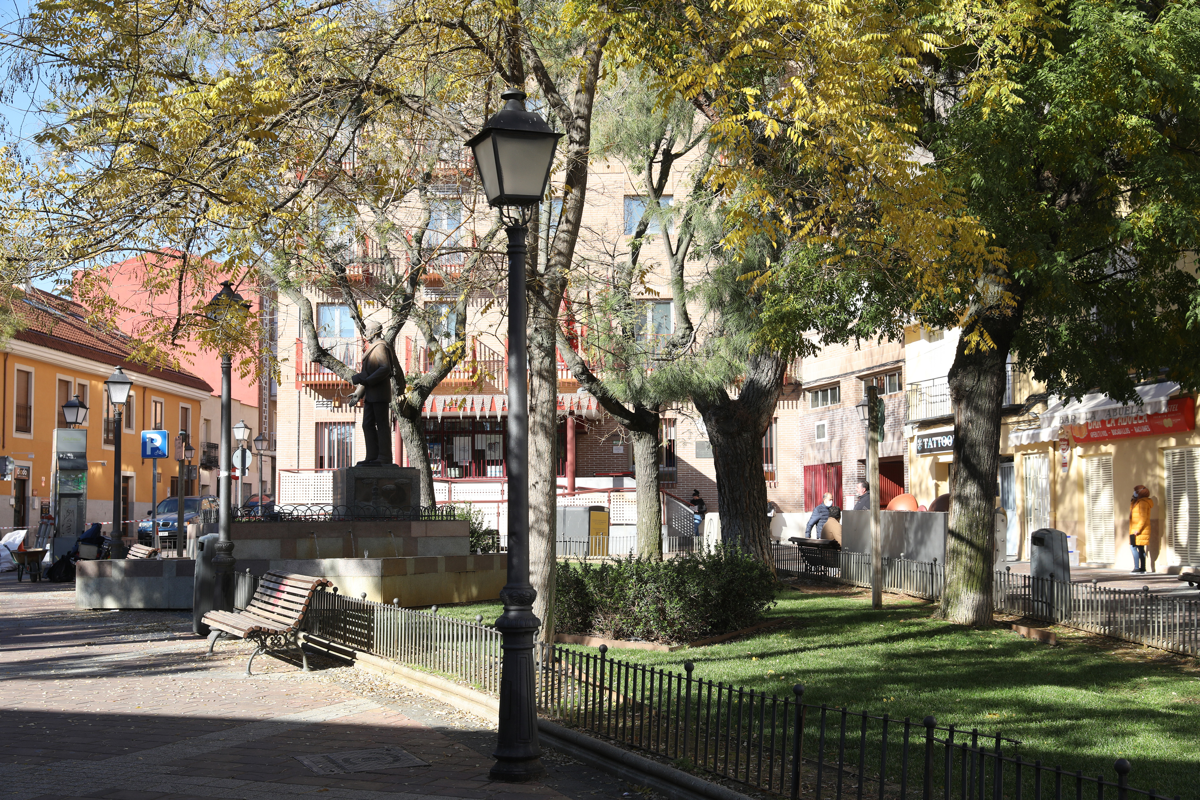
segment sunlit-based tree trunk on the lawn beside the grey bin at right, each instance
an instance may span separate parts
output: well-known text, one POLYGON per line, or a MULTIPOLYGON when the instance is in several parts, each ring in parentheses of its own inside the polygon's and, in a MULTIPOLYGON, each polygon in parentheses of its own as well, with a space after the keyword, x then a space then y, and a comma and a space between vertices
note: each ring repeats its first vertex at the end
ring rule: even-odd
POLYGON ((1000 475, 1000 408, 1004 366, 1020 311, 985 324, 995 347, 967 351, 959 339, 947 377, 954 407, 950 521, 946 536, 946 589, 940 614, 961 625, 991 625, 995 583, 996 481, 1000 475))

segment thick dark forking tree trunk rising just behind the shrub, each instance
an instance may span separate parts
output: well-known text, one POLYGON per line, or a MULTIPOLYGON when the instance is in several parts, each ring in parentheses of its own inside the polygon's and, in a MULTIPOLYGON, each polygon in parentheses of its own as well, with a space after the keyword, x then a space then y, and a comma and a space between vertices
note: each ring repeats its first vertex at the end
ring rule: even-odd
POLYGON ((737 399, 725 392, 696 396, 704 417, 716 468, 716 510, 721 540, 736 542, 775 571, 767 517, 767 479, 762 471, 762 437, 775 414, 787 363, 761 353, 746 361, 737 399))

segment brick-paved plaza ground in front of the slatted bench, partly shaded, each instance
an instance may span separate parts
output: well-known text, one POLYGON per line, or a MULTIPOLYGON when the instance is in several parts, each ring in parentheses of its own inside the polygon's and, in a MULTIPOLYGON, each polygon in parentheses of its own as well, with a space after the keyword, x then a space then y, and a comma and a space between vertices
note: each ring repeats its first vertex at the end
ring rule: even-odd
POLYGON ((247 645, 204 651, 190 612, 76 610, 73 584, 0 573, 0 800, 635 793, 548 748, 545 782, 496 783, 482 720, 322 656, 307 674, 259 656, 245 678, 247 645), (318 774, 296 758, 384 747, 427 765, 318 774))

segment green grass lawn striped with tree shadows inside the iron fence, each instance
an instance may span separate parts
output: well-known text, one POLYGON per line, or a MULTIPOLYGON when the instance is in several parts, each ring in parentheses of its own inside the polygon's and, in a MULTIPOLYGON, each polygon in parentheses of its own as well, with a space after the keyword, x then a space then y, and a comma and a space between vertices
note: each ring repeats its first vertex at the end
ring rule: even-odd
MULTIPOLYGON (((439 613, 493 621, 498 602, 439 613)), ((790 621, 745 639, 677 652, 610 650, 638 663, 695 663, 698 678, 805 702, 887 711, 914 721, 977 727, 1020 739, 1024 758, 1112 775, 1133 762, 1130 784, 1200 798, 1200 663, 1160 650, 1055 628, 1049 646, 1000 628, 972 630, 930 619, 930 603, 804 587, 780 591, 769 616, 790 621)), ((586 648, 581 648, 586 649, 586 648)))

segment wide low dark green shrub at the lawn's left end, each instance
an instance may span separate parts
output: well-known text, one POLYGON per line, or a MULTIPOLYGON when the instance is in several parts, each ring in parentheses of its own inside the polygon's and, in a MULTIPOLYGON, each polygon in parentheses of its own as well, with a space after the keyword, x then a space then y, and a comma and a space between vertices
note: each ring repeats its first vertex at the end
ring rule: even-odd
POLYGON ((739 548, 655 561, 559 561, 554 628, 616 639, 683 643, 762 621, 774 606, 770 570, 739 548))

